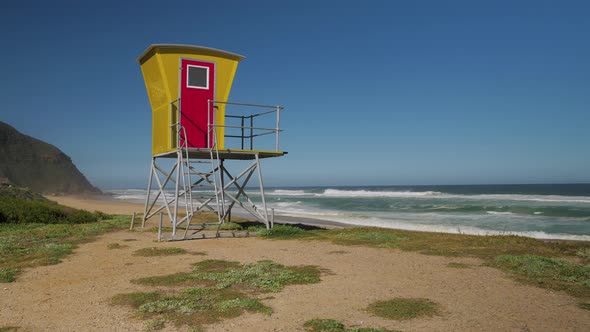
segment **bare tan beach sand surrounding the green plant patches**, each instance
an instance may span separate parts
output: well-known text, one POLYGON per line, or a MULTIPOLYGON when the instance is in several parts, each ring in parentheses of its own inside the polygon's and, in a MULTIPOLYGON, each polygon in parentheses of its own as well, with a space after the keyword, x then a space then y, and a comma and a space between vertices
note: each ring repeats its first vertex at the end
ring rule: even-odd
MULTIPOLYGON (((72 207, 131 214, 143 206, 78 197, 50 197, 72 207)), ((396 249, 338 246, 320 241, 270 241, 261 238, 156 243, 149 232, 118 231, 83 244, 63 263, 26 270, 17 282, 2 285, 0 326, 19 331, 141 331, 143 322, 130 308, 112 306, 119 293, 146 291, 132 279, 184 272, 192 263, 220 259, 284 265, 317 265, 329 271, 321 282, 288 286, 263 302, 270 316, 245 313, 205 326, 207 331, 302 331, 313 318, 331 318, 347 326, 402 331, 587 331, 590 311, 562 292, 518 283, 474 258, 427 256, 396 249), (128 247, 109 250, 110 243, 128 247), (152 246, 180 247, 188 254, 137 257, 152 246), (205 252, 195 256, 190 252, 205 252), (448 263, 467 264, 454 269, 448 263), (368 313, 374 301, 392 297, 428 298, 440 315, 393 321, 368 313)), ((176 331, 167 326, 164 331, 176 331)), ((184 331, 186 327, 178 330, 184 331)))

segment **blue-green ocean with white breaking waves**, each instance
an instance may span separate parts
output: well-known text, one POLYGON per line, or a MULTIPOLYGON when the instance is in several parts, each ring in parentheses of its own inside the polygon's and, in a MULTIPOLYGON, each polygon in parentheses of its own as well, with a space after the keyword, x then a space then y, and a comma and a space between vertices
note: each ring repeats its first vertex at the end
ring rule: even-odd
MULTIPOLYGON (((590 184, 266 188, 276 215, 416 231, 590 241, 590 184)), ((109 190, 143 202, 145 189, 109 190)), ((251 198, 260 193, 251 188, 251 198)), ((199 192, 195 192, 198 196, 199 192)))

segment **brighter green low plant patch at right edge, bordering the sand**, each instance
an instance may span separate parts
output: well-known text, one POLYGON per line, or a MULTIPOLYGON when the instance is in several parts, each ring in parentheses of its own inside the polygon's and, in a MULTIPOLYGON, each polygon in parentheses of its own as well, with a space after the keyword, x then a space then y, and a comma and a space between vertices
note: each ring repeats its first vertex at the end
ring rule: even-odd
POLYGON ((521 280, 578 297, 590 297, 590 265, 536 255, 501 255, 493 264, 521 280))

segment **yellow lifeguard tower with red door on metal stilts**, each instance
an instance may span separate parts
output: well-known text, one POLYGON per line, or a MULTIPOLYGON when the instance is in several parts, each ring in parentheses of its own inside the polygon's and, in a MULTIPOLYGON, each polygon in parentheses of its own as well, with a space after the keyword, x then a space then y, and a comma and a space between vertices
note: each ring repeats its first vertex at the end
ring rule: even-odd
POLYGON ((236 205, 266 228, 273 226, 260 160, 286 154, 279 150, 283 108, 228 102, 243 59, 213 48, 172 44, 151 45, 137 59, 152 108, 152 161, 142 225, 157 214, 166 214, 171 223, 171 234, 162 234, 160 217, 158 239, 204 238, 200 230, 205 226, 191 224, 193 216, 212 211, 215 224, 221 225, 236 205), (241 170, 237 175, 230 173, 228 161, 239 163, 231 167, 241 170), (253 178, 260 190, 257 204, 247 193, 253 178))

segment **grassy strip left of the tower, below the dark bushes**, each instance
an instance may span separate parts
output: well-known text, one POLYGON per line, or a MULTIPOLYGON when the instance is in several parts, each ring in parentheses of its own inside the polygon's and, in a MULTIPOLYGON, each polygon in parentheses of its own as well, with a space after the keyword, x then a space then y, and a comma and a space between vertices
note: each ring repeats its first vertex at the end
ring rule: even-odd
POLYGON ((82 224, 0 223, 0 282, 15 281, 26 268, 58 264, 79 244, 128 224, 129 216, 82 224))

